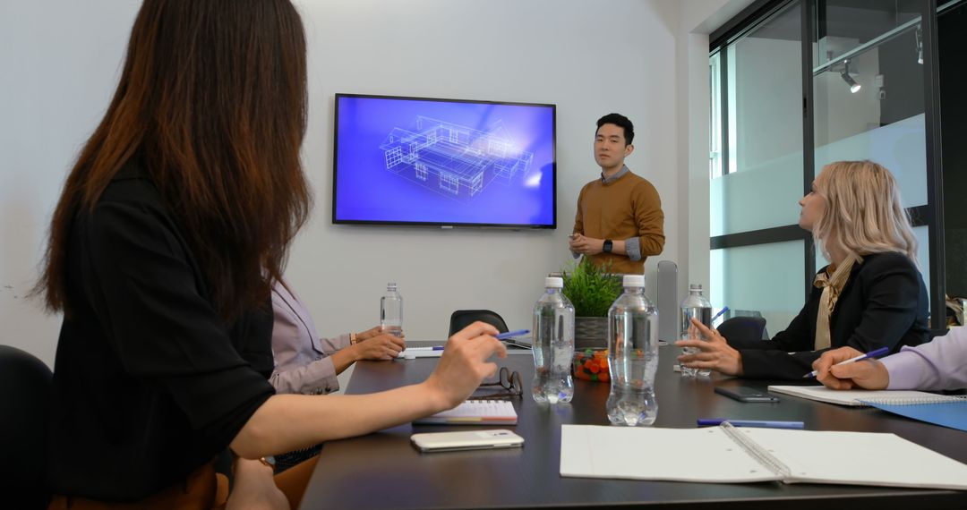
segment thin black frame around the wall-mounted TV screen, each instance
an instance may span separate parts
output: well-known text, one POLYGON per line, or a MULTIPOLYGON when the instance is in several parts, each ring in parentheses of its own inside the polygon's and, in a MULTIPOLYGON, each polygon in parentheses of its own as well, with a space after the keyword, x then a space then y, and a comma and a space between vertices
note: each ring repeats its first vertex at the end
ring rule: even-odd
POLYGON ((379 96, 371 94, 345 94, 337 93, 335 98, 335 115, 333 120, 333 215, 334 225, 383 225, 383 226, 419 226, 436 228, 453 227, 485 227, 500 228, 511 230, 545 230, 557 229, 557 104, 542 102, 514 102, 497 100, 477 100, 477 99, 445 99, 445 98, 414 98, 409 96, 379 96), (472 102, 475 104, 501 104, 510 106, 542 106, 551 109, 551 208, 553 220, 549 225, 537 225, 532 223, 465 223, 465 222, 445 222, 445 221, 392 221, 392 220, 371 220, 371 219, 337 219, 336 207, 338 196, 338 160, 339 160, 339 99, 341 98, 364 98, 364 99, 401 99, 401 100, 424 100, 435 102, 472 102))

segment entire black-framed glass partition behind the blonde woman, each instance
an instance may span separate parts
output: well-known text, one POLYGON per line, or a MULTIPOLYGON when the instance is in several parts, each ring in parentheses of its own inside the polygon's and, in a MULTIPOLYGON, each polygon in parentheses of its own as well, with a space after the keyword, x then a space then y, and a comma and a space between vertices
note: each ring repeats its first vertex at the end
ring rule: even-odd
POLYGON ((828 264, 797 202, 823 165, 871 159, 900 185, 931 316, 946 315, 936 14, 935 0, 761 0, 712 35, 713 303, 788 326, 828 264))

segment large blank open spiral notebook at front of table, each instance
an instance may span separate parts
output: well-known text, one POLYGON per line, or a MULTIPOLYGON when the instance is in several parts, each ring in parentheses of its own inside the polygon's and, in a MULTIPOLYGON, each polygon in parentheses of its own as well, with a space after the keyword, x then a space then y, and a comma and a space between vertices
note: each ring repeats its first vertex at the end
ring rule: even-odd
POLYGON ((967 490, 967 465, 893 434, 728 424, 704 429, 563 425, 561 476, 967 490))

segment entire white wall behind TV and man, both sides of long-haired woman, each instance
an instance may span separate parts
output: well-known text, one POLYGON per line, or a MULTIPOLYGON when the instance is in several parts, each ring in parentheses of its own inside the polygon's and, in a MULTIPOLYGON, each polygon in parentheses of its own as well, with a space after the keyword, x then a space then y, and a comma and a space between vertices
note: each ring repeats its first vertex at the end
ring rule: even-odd
MULTIPOLYGON (((686 253, 693 250, 683 241, 689 218, 679 199, 686 184, 682 176, 697 175, 708 148, 707 136, 683 131, 680 123, 701 132, 708 101, 707 45, 701 48, 701 37, 685 46, 679 41, 719 9, 737 12, 747 0, 297 3, 309 41, 304 162, 316 208, 293 247, 288 275, 322 333, 376 324, 378 298, 388 280, 396 280, 405 298, 411 339, 443 337, 457 308, 490 308, 512 328, 528 327, 543 275, 570 260, 566 239, 577 191, 598 172, 591 152, 594 122, 611 111, 635 123, 636 150, 629 166, 651 180, 663 200, 668 242, 646 266, 649 281, 659 259, 675 260, 687 273, 686 253), (679 26, 680 16, 689 27, 679 26), (688 57, 683 48, 689 49, 688 57), (682 71, 686 65, 688 71, 682 71), (686 83, 698 85, 685 88, 686 83), (556 103, 558 229, 332 225, 337 92, 556 103), (689 100, 683 101, 680 94, 686 92, 689 100), (704 110, 692 99, 705 101, 704 110), (689 142, 683 144, 686 134, 689 142)), ((113 92, 138 5, 133 0, 0 3, 0 342, 48 363, 59 318, 44 315, 24 295, 37 277, 63 178, 113 92)), ((707 212, 698 221, 705 225, 700 244, 708 238, 707 212)), ((707 252, 704 258, 707 274, 707 252)))

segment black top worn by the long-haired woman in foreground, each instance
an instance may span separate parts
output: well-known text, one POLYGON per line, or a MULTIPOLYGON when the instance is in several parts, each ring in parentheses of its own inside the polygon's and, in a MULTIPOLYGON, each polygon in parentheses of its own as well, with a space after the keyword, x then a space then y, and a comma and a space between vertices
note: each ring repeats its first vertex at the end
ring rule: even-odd
POLYGON ((73 219, 54 362, 54 494, 132 501, 183 483, 274 390, 272 313, 215 312, 183 230, 129 163, 73 219))

